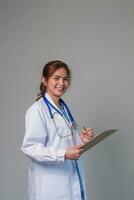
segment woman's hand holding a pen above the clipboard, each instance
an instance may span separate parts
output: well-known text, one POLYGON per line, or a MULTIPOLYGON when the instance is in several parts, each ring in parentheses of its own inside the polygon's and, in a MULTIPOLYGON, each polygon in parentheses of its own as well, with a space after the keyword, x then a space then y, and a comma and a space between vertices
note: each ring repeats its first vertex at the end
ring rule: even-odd
POLYGON ((94 133, 93 133, 92 128, 86 128, 80 131, 80 138, 84 144, 89 142, 93 138, 93 136, 94 136, 94 133))

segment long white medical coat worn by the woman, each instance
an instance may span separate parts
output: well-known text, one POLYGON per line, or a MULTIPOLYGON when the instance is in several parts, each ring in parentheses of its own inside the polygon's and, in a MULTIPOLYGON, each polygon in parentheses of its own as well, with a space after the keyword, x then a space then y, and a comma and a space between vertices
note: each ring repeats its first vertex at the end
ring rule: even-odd
MULTIPOLYGON (((48 94, 47 99, 58 109, 48 94)), ((51 109, 59 133, 70 131, 63 117, 51 109)), ((80 144, 73 136, 60 138, 43 98, 27 111, 22 151, 30 157, 28 200, 81 200, 75 163, 64 158, 69 146, 80 144)), ((80 164, 79 164, 80 168, 80 164)), ((80 169, 81 175, 83 174, 80 169)), ((83 180, 84 183, 84 180, 83 180)))

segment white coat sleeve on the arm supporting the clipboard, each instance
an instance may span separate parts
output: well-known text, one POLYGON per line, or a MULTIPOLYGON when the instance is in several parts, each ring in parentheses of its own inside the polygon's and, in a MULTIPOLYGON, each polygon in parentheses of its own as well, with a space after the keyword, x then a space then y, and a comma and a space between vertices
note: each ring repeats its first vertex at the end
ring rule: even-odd
POLYGON ((45 147, 47 128, 45 117, 37 105, 30 107, 25 116, 25 136, 21 150, 31 159, 39 162, 64 162, 65 149, 45 147))

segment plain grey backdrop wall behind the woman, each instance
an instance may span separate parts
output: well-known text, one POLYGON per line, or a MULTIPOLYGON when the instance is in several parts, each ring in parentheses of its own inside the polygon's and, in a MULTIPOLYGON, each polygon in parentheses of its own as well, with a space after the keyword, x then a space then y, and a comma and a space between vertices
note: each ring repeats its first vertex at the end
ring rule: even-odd
POLYGON ((119 128, 83 156, 88 200, 133 200, 133 0, 0 1, 0 199, 27 199, 24 115, 53 59, 71 67, 80 126, 119 128))

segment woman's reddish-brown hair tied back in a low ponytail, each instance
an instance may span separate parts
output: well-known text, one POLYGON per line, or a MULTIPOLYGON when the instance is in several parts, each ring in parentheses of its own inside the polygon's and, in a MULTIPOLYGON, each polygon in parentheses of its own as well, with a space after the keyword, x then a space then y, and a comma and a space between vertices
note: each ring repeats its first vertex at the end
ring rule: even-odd
MULTIPOLYGON (((42 77, 45 78, 45 80, 48 80, 55 71, 57 71, 60 68, 64 68, 68 74, 68 77, 71 78, 71 71, 66 63, 64 63, 61 60, 53 60, 48 62, 42 72, 42 77)), ((40 84, 40 93, 37 95, 36 101, 39 100, 44 94, 46 93, 46 86, 41 82, 40 84)))

